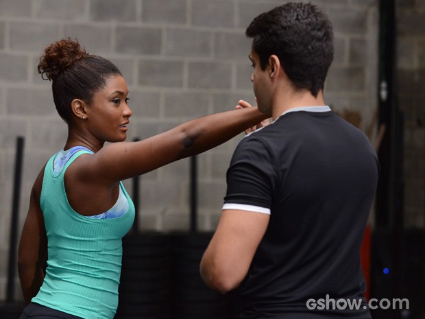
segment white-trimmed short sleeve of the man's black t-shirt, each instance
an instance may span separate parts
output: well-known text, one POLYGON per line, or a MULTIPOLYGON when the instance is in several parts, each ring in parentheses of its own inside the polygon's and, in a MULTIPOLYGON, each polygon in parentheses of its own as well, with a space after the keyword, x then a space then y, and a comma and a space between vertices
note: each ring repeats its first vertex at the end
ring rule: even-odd
POLYGON ((267 143, 255 135, 245 137, 234 151, 227 172, 223 209, 270 213, 276 161, 267 143))

